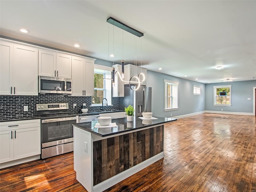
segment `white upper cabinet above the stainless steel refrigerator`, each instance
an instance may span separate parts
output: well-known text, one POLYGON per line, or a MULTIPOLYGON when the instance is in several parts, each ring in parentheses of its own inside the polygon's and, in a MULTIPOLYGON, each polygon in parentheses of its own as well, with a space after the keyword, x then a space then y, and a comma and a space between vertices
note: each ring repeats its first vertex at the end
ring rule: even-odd
MULTIPOLYGON (((139 78, 142 81, 141 85, 146 85, 146 80, 147 80, 147 69, 140 67, 140 66, 135 66, 132 64, 127 64, 124 66, 124 80, 130 81, 130 78, 132 76, 139 76, 139 74, 142 73, 145 76, 145 80, 143 80, 143 76, 141 75, 139 78)), ((135 78, 132 78, 132 81, 136 81, 135 78)), ((129 82, 124 82, 124 84, 129 84, 129 82)), ((131 83, 134 84, 134 83, 131 83)))

